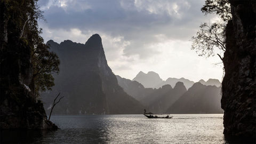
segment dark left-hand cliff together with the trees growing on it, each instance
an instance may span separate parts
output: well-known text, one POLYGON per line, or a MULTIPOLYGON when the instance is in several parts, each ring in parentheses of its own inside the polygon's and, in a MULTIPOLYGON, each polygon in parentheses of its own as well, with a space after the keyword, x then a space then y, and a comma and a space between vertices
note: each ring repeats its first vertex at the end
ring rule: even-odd
POLYGON ((40 36, 38 19, 44 19, 36 0, 0 3, 1 129, 52 129, 39 92, 54 85, 58 56, 40 36))

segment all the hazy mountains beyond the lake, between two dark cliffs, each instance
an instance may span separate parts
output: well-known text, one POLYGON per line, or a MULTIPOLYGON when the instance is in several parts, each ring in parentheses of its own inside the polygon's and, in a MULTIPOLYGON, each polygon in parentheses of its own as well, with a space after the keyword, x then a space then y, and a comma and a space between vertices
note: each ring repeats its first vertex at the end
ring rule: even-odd
POLYGON ((54 108, 54 114, 142 114, 145 108, 153 113, 222 113, 220 87, 201 84, 218 85, 218 80, 163 81, 153 71, 140 71, 133 81, 115 76, 98 34, 85 44, 50 40, 47 45, 61 61, 60 73, 54 75, 55 86, 42 97, 48 112, 60 92, 64 98, 54 108))

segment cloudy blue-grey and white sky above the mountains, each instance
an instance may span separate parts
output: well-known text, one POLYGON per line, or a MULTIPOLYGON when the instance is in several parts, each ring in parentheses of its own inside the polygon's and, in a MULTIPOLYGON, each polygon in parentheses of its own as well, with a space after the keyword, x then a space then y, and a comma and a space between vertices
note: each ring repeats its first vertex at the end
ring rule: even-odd
POLYGON ((200 11, 204 0, 39 0, 38 4, 47 20, 39 21, 45 42, 85 43, 97 33, 116 75, 132 79, 139 71, 155 71, 164 80, 222 79, 218 56, 206 59, 190 50, 199 25, 218 19, 200 11))

